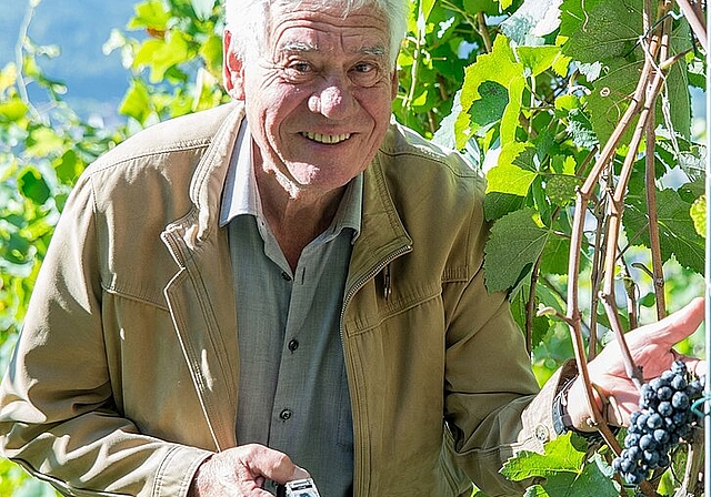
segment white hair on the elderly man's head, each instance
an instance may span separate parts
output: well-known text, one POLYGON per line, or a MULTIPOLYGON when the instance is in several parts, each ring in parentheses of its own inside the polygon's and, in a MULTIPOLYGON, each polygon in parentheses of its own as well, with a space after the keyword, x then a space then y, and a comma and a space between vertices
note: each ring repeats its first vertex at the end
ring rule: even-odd
MULTIPOLYGON (((373 6, 381 11, 390 30, 390 62, 394 68, 400 44, 407 33, 410 0, 321 0, 324 7, 342 7, 349 12, 373 6)), ((298 8, 301 0, 224 0, 226 28, 232 33, 231 50, 241 60, 259 54, 267 47, 269 11, 272 4, 298 8)))

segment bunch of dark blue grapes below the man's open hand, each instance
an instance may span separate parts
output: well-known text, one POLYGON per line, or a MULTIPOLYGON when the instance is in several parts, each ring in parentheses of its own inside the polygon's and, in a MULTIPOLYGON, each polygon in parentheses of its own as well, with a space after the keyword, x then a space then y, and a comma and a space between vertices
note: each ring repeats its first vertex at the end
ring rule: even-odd
POLYGON ((640 410, 630 416, 624 449, 612 462, 625 483, 639 485, 649 471, 671 464, 671 449, 689 437, 697 422, 691 405, 702 392, 703 382, 692 379, 681 361, 642 385, 640 410))

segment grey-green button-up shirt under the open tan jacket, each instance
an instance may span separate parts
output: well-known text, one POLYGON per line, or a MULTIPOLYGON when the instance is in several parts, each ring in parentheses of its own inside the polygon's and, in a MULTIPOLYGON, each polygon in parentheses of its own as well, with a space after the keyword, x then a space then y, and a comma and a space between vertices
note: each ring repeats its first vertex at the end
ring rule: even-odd
MULTIPOLYGON (((238 444, 281 450, 311 474, 321 495, 351 496, 353 426, 339 324, 360 231, 362 175, 292 272, 262 214, 246 128, 221 213, 237 288, 238 444)), ((274 491, 272 483, 268 489, 274 491)))

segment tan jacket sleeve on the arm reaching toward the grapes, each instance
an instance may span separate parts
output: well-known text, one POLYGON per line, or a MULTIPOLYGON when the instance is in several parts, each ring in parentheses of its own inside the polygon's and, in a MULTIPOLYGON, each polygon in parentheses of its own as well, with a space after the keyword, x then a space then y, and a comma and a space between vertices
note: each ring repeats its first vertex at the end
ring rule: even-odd
POLYGON ((553 398, 574 365, 539 387, 505 294, 490 294, 484 285, 488 231, 481 204, 471 225, 471 263, 478 270, 445 290, 445 419, 454 458, 468 477, 488 495, 521 495, 533 481, 509 481, 499 470, 521 450, 542 453, 555 437, 553 398))

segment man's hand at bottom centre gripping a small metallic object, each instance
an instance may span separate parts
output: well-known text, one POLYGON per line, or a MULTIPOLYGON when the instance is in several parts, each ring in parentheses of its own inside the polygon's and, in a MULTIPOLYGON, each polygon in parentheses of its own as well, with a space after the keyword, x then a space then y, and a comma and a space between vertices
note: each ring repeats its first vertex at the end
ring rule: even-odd
POLYGON ((308 478, 289 456, 263 445, 242 445, 214 454, 198 468, 188 497, 271 497, 267 479, 284 484, 308 478))

